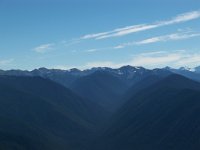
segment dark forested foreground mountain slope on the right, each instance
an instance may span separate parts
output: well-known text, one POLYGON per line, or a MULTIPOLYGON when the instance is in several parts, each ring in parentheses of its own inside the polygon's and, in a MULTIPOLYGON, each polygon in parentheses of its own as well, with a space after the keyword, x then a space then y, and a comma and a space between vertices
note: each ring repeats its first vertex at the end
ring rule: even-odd
POLYGON ((198 149, 199 108, 199 83, 180 75, 161 79, 133 91, 98 139, 97 149, 198 149))

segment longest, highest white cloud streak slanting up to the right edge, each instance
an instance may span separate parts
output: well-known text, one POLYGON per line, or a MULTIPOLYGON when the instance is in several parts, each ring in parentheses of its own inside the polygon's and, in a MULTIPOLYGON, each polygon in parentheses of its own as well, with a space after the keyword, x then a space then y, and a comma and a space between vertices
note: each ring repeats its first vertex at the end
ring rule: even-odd
POLYGON ((85 40, 85 39, 99 40, 99 39, 105 39, 105 38, 110 38, 110 37, 120 37, 120 36, 125 36, 128 34, 141 32, 141 31, 145 31, 145 30, 150 30, 150 29, 154 29, 154 28, 158 28, 158 27, 162 27, 162 26, 183 23, 183 22, 191 21, 191 20, 198 19, 198 18, 200 18, 200 11, 192 11, 192 12, 187 12, 187 13, 177 15, 176 17, 174 17, 170 20, 158 21, 158 22, 154 22, 152 24, 132 25, 132 26, 114 29, 114 30, 107 31, 107 32, 87 34, 87 35, 84 35, 83 37, 81 37, 80 39, 82 39, 82 40, 85 40))

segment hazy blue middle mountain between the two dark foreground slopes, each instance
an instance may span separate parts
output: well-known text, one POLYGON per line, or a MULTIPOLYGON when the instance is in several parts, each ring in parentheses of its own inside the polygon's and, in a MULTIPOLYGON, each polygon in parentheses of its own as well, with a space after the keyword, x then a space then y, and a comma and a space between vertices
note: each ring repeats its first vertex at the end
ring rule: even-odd
POLYGON ((128 86, 119 78, 102 71, 82 77, 72 85, 74 92, 110 111, 118 106, 127 89, 128 86))

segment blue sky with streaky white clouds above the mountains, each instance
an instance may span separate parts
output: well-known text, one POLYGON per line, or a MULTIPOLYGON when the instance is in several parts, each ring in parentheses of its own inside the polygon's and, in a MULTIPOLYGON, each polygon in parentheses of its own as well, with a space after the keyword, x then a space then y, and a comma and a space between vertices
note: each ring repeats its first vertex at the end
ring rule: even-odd
POLYGON ((199 0, 0 0, 0 69, 200 66, 199 0))

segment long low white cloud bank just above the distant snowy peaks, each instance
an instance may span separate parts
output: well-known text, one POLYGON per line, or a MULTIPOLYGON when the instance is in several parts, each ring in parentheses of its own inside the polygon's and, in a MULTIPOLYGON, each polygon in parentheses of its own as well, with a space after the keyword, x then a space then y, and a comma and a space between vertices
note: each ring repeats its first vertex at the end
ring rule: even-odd
POLYGON ((82 68, 92 67, 113 67, 119 68, 124 65, 144 66, 147 68, 161 68, 166 65, 179 68, 187 65, 188 67, 196 67, 200 65, 200 53, 188 53, 186 50, 168 51, 152 51, 141 53, 133 56, 127 62, 115 63, 112 61, 88 62, 82 68))

